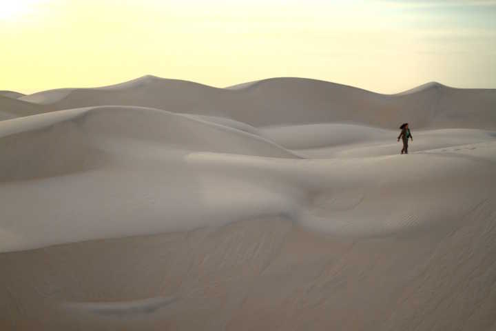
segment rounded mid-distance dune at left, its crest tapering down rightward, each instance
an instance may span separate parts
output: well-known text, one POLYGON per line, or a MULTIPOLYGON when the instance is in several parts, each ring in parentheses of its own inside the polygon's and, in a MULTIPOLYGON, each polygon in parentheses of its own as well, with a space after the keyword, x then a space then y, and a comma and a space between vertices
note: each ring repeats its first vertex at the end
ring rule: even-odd
POLYGON ((0 140, 0 150, 6 158, 0 165, 1 181, 99 168, 110 159, 105 146, 116 141, 123 148, 126 143, 149 143, 176 150, 297 157, 254 134, 160 110, 101 107, 51 115, 48 120, 43 115, 30 118, 31 126, 3 123, 6 136, 0 140), (20 132, 9 134, 16 130, 20 132))

